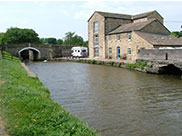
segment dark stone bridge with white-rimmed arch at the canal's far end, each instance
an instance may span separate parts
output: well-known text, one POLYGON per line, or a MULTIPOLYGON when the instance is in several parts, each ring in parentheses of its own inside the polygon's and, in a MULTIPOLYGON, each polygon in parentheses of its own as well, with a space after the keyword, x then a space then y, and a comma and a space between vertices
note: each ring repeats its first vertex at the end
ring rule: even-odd
POLYGON ((72 46, 59 46, 52 44, 9 44, 3 45, 3 49, 20 57, 29 60, 53 60, 56 57, 71 56, 72 46))

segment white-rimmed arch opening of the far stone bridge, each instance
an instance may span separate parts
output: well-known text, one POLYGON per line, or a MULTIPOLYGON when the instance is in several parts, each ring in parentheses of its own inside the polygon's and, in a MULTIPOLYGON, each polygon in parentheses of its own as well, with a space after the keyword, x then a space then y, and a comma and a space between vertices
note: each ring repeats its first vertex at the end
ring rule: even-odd
POLYGON ((18 55, 20 58, 26 60, 38 60, 40 59, 40 51, 34 47, 25 47, 18 51, 18 55))

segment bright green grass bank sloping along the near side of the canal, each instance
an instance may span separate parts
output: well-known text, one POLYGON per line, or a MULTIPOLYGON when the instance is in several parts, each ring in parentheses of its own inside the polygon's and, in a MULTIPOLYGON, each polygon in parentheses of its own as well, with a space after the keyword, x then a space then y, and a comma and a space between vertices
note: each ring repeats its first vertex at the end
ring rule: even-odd
POLYGON ((0 57, 0 84, 0 115, 10 135, 99 135, 53 101, 49 90, 38 78, 28 77, 20 62, 0 57))

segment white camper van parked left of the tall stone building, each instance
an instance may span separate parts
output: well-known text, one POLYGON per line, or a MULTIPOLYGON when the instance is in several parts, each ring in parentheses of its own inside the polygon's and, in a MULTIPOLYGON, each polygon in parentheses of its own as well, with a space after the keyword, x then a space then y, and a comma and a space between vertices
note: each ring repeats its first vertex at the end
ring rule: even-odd
POLYGON ((88 56, 88 48, 87 47, 72 47, 71 55, 73 57, 87 57, 88 56))

